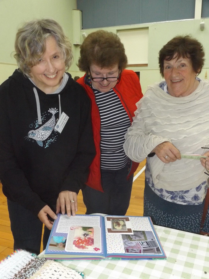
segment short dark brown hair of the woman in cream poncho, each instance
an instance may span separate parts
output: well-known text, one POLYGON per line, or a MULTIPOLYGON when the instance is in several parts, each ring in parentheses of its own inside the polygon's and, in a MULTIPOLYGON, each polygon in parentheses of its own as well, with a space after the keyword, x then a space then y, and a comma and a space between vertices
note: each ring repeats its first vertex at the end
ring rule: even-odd
POLYGON ((200 42, 191 36, 176 36, 170 40, 159 51, 159 66, 162 77, 164 76, 164 60, 170 61, 173 58, 190 58, 192 68, 199 74, 204 65, 205 52, 200 42))

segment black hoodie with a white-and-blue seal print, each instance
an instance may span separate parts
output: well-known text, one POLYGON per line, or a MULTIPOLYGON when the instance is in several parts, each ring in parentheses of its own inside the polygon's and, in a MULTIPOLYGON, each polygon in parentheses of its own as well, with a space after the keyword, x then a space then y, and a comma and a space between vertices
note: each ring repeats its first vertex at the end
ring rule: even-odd
POLYGON ((78 193, 94 155, 90 100, 71 75, 59 94, 45 94, 18 70, 0 86, 0 180, 3 193, 36 215, 55 210, 61 191, 78 193), (38 92, 42 124, 37 121, 38 92), (69 119, 54 131, 61 112, 69 119), (39 136, 38 136, 39 134, 39 136))

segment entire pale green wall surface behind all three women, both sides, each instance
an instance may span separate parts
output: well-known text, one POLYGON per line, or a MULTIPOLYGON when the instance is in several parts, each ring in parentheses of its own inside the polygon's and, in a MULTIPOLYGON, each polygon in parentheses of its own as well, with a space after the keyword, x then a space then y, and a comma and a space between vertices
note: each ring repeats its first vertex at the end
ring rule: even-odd
MULTIPOLYGON (((18 27, 23 22, 35 18, 53 18, 63 27, 65 34, 73 40, 73 22, 72 10, 76 9, 76 0, 0 0, 0 18, 2 26, 0 28, 0 84, 11 75, 16 68, 15 59, 11 56, 14 51, 14 39, 18 27)), ((147 23, 137 25, 126 25, 103 28, 105 30, 117 33, 117 30, 130 28, 149 27, 149 54, 147 67, 131 67, 134 71, 140 71, 140 82, 142 92, 145 93, 147 85, 161 80, 158 67, 158 52, 164 44, 176 35, 191 34, 198 39, 205 48, 206 61, 200 74, 205 78, 206 69, 209 76, 209 18, 205 20, 205 30, 200 30, 200 20, 182 20, 160 23, 147 23)), ((86 34, 98 30, 86 29, 86 34)), ((81 34, 84 30, 81 30, 81 34)), ((80 34, 80 35, 81 35, 80 34)), ((81 36, 82 38, 82 36, 81 36)), ((81 39, 82 42, 83 39, 81 39)), ((69 70, 72 77, 82 76, 79 72, 76 62, 79 58, 79 45, 73 45, 74 62, 69 70)))

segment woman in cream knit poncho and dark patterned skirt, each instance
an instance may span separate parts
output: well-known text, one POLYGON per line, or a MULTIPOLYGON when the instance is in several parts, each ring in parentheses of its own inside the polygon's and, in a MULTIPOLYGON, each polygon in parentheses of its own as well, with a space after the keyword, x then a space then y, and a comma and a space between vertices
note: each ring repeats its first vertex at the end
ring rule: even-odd
MULTIPOLYGON (((147 184, 154 196, 151 198, 145 193, 146 202, 149 204, 152 199, 155 200, 157 194, 160 199, 172 202, 165 205, 174 206, 172 212, 176 211, 175 206, 183 205, 183 209, 178 208, 182 212, 188 211, 185 205, 202 207, 206 194, 204 166, 208 159, 181 158, 181 154, 209 156, 209 151, 205 153, 201 148, 209 146, 209 83, 196 77, 204 61, 203 48, 197 40, 189 36, 175 37, 159 54, 161 74, 165 81, 149 86, 137 103, 135 118, 125 135, 124 149, 135 162, 141 162, 148 156, 145 188, 147 184)), ((208 162, 206 165, 209 167, 208 162)), ((158 223, 158 217, 155 218, 155 214, 149 210, 146 212, 146 206, 144 215, 149 213, 154 223, 165 226, 167 221, 158 223)), ((162 207, 161 212, 158 212, 158 208, 153 210, 156 214, 164 214, 162 207)), ((198 210, 199 213, 201 211, 202 208, 198 210)), ((188 221, 190 213, 188 211, 188 221)), ((176 212, 174 214, 177 220, 176 212)), ((172 227, 172 224, 169 226, 172 227)), ((189 231, 199 230, 192 225, 188 227, 189 231)), ((187 230, 182 224, 174 228, 187 230)))

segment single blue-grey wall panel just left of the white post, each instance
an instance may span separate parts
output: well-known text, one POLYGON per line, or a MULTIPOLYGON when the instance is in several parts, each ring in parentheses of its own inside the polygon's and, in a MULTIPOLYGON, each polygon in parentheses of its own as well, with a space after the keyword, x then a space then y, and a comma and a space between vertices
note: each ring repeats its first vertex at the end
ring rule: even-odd
POLYGON ((169 0, 168 20, 195 18, 195 0, 169 0))

